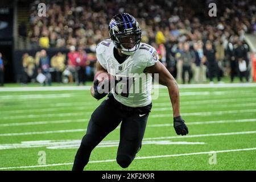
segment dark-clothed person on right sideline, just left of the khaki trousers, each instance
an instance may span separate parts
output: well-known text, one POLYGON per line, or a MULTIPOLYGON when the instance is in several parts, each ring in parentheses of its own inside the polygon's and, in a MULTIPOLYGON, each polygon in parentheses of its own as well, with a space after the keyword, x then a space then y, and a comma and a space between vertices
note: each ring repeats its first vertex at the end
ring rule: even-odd
POLYGON ((188 84, 191 82, 192 70, 191 64, 195 61, 195 53, 189 49, 189 44, 184 43, 184 51, 181 53, 180 60, 182 61, 182 81, 185 84, 185 73, 188 72, 188 84))

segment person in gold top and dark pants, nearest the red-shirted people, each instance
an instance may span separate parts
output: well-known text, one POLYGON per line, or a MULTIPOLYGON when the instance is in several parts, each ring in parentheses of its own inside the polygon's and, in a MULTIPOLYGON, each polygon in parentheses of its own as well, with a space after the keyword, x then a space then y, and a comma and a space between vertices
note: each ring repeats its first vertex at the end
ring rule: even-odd
POLYGON ((61 52, 58 52, 55 56, 51 59, 51 66, 55 69, 56 73, 56 81, 61 82, 61 75, 65 69, 65 55, 61 52))

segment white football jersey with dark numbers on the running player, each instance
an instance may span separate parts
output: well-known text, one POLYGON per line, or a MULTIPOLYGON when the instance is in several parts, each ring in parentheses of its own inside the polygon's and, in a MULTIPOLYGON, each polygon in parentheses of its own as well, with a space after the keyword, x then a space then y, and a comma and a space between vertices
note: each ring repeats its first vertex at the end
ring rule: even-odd
POLYGON ((103 40, 96 48, 97 60, 117 80, 121 80, 110 91, 115 100, 130 107, 142 107, 151 103, 152 76, 144 73, 158 61, 154 47, 141 43, 138 50, 122 64, 114 57, 114 43, 103 40))

